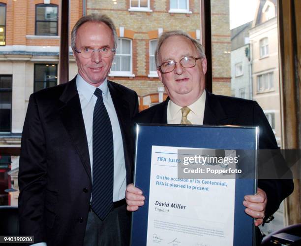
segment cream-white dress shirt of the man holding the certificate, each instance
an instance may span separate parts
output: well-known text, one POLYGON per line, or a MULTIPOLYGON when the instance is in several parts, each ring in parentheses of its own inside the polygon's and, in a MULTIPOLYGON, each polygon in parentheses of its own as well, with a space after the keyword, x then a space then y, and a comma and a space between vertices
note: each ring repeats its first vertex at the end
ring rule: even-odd
MULTIPOLYGON (((187 119, 193 125, 203 125, 204 112, 206 102, 206 90, 202 93, 201 97, 193 104, 188 105, 190 112, 187 119)), ((169 100, 167 105, 167 123, 168 124, 181 124, 182 112, 181 106, 176 105, 173 101, 169 100)))

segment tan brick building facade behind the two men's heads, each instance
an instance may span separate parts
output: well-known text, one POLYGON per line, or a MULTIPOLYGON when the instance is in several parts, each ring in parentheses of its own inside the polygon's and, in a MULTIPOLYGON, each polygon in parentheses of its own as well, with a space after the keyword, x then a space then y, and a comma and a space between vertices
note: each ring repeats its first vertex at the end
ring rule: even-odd
MULTIPOLYGON (((162 87, 156 73, 150 71, 151 41, 156 40, 162 31, 171 30, 183 30, 200 39, 200 0, 180 1, 186 9, 179 5, 178 9, 172 8, 173 2, 87 0, 88 14, 107 14, 114 20, 119 37, 131 40, 132 70, 127 76, 111 71, 110 79, 135 90, 141 98, 148 94, 157 94, 158 88, 162 87), (137 2, 144 2, 144 7, 139 6, 137 2), (137 5, 138 7, 135 7, 137 5)), ((211 29, 213 92, 230 95, 229 0, 211 0, 211 29)), ((141 104, 153 103, 157 98, 154 97, 153 100, 141 100, 141 104)))

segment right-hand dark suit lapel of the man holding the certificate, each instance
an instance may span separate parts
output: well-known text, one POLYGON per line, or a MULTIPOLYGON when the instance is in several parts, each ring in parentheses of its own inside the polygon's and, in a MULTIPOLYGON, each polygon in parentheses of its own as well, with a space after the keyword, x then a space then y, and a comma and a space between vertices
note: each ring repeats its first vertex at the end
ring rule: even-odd
POLYGON ((235 119, 235 115, 227 115, 218 97, 206 91, 204 112, 204 125, 229 125, 235 119))

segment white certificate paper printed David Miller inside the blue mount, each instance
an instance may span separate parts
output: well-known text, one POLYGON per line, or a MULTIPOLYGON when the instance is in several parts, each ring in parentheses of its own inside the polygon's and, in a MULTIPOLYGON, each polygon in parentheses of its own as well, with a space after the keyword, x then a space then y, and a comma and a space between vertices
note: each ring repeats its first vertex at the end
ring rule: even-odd
POLYGON ((233 246, 235 179, 178 178, 179 149, 152 146, 147 246, 233 246))

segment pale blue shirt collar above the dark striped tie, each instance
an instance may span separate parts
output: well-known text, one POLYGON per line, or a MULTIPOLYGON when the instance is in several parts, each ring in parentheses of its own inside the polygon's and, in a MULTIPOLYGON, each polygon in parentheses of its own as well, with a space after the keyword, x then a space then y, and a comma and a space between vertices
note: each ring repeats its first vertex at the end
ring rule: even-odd
MULTIPOLYGON (((81 93, 86 100, 89 102, 94 95, 95 92, 95 86, 90 85, 87 83, 80 74, 77 74, 76 76, 76 87, 77 91, 81 93)), ((101 85, 99 85, 97 88, 99 88, 102 91, 102 94, 106 99, 108 99, 108 80, 107 78, 103 81, 101 85)))

